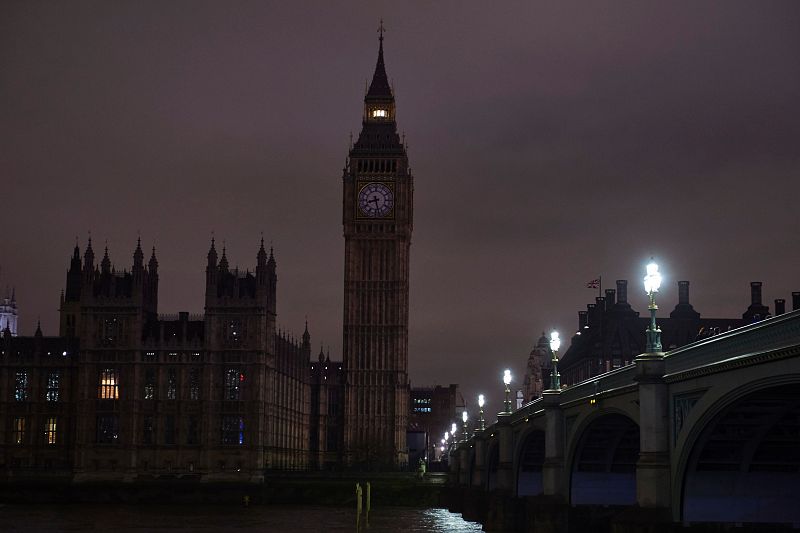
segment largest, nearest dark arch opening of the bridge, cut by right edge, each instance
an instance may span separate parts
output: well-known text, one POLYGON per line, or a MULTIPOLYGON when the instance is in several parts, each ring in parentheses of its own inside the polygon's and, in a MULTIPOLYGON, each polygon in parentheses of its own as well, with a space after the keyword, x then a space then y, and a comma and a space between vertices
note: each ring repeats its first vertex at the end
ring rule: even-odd
POLYGON ((800 524, 800 374, 740 386, 693 418, 676 450, 682 521, 800 524))

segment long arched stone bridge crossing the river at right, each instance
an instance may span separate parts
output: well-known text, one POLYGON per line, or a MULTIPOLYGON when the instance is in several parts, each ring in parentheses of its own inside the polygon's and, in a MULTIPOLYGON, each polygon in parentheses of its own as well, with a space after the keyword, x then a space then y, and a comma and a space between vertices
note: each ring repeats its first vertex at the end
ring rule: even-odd
POLYGON ((545 391, 450 460, 487 531, 798 528, 800 311, 545 391))

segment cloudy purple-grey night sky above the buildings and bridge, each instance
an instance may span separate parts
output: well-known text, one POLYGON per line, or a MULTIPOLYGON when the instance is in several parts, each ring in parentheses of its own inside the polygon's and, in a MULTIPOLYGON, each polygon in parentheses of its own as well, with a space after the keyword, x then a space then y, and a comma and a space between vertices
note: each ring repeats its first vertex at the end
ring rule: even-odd
POLYGON ((202 312, 212 232, 278 262, 279 324, 341 357, 342 167, 383 17, 415 175, 409 371, 499 409, 543 330, 644 264, 660 316, 800 290, 800 3, 0 5, 0 287, 57 334, 75 237, 202 312))

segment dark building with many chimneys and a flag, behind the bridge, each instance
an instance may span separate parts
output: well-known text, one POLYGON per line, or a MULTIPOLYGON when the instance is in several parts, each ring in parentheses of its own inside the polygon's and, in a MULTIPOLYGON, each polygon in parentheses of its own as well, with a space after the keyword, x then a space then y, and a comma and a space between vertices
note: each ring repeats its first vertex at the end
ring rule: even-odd
MULTIPOLYGON (((750 305, 741 318, 703 318, 689 301, 689 282, 679 281, 678 304, 669 318, 658 318, 664 350, 770 317, 769 307, 762 303, 761 286, 761 282, 750 283, 750 305)), ((628 365, 645 351, 645 331, 650 319, 647 313, 639 316, 631 307, 627 293, 627 280, 617 280, 616 290, 606 289, 605 297, 596 298, 595 303, 586 306, 586 311, 578 312, 578 331, 559 359, 562 386, 628 365)), ((800 308, 800 293, 792 293, 792 298, 794 309, 800 308)), ((784 313, 785 301, 776 300, 775 310, 776 314, 784 313)), ((544 387, 549 386, 549 372, 549 368, 542 369, 544 387)))

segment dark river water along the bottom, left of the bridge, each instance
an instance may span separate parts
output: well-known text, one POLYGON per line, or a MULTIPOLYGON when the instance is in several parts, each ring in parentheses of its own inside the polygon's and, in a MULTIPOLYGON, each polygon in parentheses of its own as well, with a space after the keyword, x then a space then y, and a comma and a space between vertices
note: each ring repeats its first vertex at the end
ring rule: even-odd
POLYGON ((477 532, 446 509, 372 509, 356 529, 354 509, 335 507, 224 505, 0 505, 0 531, 114 532, 477 532))

